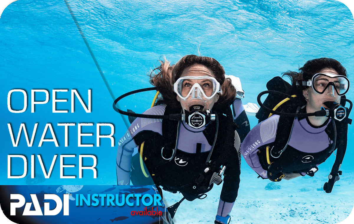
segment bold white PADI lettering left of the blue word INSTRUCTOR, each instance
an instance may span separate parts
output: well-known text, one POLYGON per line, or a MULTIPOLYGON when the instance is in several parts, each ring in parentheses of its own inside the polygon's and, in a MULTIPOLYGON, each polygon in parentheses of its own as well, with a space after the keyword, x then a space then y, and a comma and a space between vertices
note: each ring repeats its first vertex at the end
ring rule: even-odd
MULTIPOLYGON (((21 208, 24 206, 22 216, 43 216, 41 206, 39 205, 39 201, 37 199, 36 194, 30 194, 34 210, 30 210, 32 206, 32 202, 27 202, 23 195, 21 194, 10 194, 11 200, 18 200, 18 202, 10 202, 10 216, 16 216, 16 208, 21 208)), ((56 204, 56 207, 50 210, 50 203, 54 202, 44 202, 44 215, 45 216, 55 216, 62 211, 63 215, 69 215, 69 194, 63 194, 63 201, 56 194, 44 194, 44 200, 53 200, 56 204)))

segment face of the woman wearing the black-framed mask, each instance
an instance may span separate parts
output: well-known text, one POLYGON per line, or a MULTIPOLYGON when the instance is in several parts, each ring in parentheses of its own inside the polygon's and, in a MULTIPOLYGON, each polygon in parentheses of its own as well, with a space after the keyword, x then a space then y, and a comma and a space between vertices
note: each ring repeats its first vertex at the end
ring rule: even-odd
MULTIPOLYGON (((337 71, 332 68, 324 68, 318 73, 330 73, 339 75, 337 71)), ((323 78, 326 79, 327 83, 333 82, 336 84, 336 82, 338 82, 337 78, 330 78, 327 76, 324 76, 323 78)), ((321 77, 319 80, 321 80, 321 77)), ((320 83, 314 83, 313 85, 320 85, 320 83)), ((322 94, 316 93, 312 87, 308 87, 306 90, 303 90, 303 95, 306 99, 308 99, 306 104, 308 113, 321 110, 321 107, 326 107, 323 104, 324 102, 334 101, 339 103, 341 100, 341 96, 338 96, 337 92, 333 90, 332 86, 329 86, 322 94)))

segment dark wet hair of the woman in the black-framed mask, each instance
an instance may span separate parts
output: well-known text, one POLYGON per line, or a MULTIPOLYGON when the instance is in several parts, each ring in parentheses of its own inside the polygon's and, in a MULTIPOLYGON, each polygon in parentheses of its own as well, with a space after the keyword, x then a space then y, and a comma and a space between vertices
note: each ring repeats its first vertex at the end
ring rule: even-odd
MULTIPOLYGON (((296 82, 302 85, 302 81, 311 80, 312 77, 319 73, 324 68, 332 68, 337 71, 339 75, 347 76, 347 70, 343 65, 333 58, 317 58, 307 61, 303 67, 299 68, 299 72, 286 71, 282 76, 288 76, 291 80, 292 86, 296 86, 296 82)), ((307 86, 308 87, 308 86, 307 86)), ((302 87, 306 89, 307 87, 302 87)))

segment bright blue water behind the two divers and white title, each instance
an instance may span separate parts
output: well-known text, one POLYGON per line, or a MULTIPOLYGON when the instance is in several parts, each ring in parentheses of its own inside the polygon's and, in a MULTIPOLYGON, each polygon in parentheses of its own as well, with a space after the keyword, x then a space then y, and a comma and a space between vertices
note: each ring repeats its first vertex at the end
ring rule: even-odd
MULTIPOLYGON (((226 74, 240 78, 245 91, 244 104, 256 103, 257 94, 266 90, 269 79, 287 70, 296 71, 309 59, 335 58, 347 69, 349 79, 354 73, 353 15, 347 6, 334 0, 19 0, 2 13, 0 34, 2 185, 30 183, 26 182, 30 155, 41 155, 46 172, 53 156, 58 155, 51 177, 44 181, 38 178, 40 184, 116 184, 116 146, 126 132, 128 121, 112 109, 113 99, 128 91, 150 87, 147 75, 163 56, 172 63, 186 54, 217 59, 226 74), (7 94, 13 89, 27 92, 28 106, 24 113, 10 113, 7 109, 7 94), (51 97, 47 104, 36 105, 34 113, 30 110, 32 89, 46 89, 51 97), (68 113, 52 113, 53 89, 68 90, 57 93, 58 99, 68 99, 57 103, 57 109, 68 113), (77 89, 85 102, 87 90, 92 90, 91 113, 85 113, 78 100, 75 112, 70 113, 72 89, 77 89), (27 147, 26 139, 21 136, 18 147, 13 147, 8 123, 16 137, 21 123, 26 124, 29 136, 34 124, 39 123, 33 146, 27 147), (38 147, 47 123, 52 124, 59 147, 53 142, 38 147), (64 127, 57 123, 76 124, 69 127, 68 147, 64 147, 64 127), (83 144, 93 147, 78 147, 78 123, 93 123, 82 127, 83 133, 93 134, 82 137, 83 144), (97 147, 97 123, 114 124, 114 147, 108 139, 102 139, 97 147), (27 157, 26 178, 7 178, 10 154, 27 157), (84 154, 97 157, 96 179, 90 171, 84 171, 79 179, 78 157, 84 154), (65 165, 75 165, 65 168, 64 175, 76 178, 59 178, 59 155, 76 155, 64 160, 65 165)), ((122 100, 119 106, 141 113, 150 107, 153 95, 153 92, 135 94, 122 100)), ((346 96, 353 99, 353 89, 346 96)), ((44 94, 38 93, 36 100, 44 100, 44 94)), ((13 94, 11 105, 21 110, 23 95, 13 94)), ((255 117, 249 119, 252 127, 257 124, 255 117)), ((108 128, 102 128, 102 133, 109 132, 108 128)), ((354 171, 353 133, 353 127, 349 126, 347 153, 341 167, 343 176, 354 171)), ((51 138, 50 132, 46 138, 51 138)), ((320 166, 321 175, 329 173, 334 158, 332 155, 320 166)), ((241 168, 250 170, 245 162, 241 168)), ((21 159, 13 159, 12 172, 14 176, 23 173, 21 159)), ((37 159, 35 173, 42 173, 37 159)))

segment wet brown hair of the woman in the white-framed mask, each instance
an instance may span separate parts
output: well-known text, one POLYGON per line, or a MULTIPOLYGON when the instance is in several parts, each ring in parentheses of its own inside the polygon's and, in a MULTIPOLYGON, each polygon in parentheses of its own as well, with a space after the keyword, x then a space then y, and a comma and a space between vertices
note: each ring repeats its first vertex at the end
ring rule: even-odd
POLYGON ((163 61, 160 60, 160 63, 161 65, 150 73, 150 83, 156 86, 162 95, 162 99, 157 102, 158 104, 166 103, 170 107, 181 108, 181 103, 176 98, 177 94, 173 91, 173 84, 181 77, 184 69, 194 64, 201 64, 210 69, 221 85, 223 94, 220 95, 213 108, 223 108, 229 105, 231 100, 235 99, 235 87, 229 78, 225 79, 224 68, 214 58, 191 54, 182 57, 175 65, 170 65, 166 58, 163 61))

